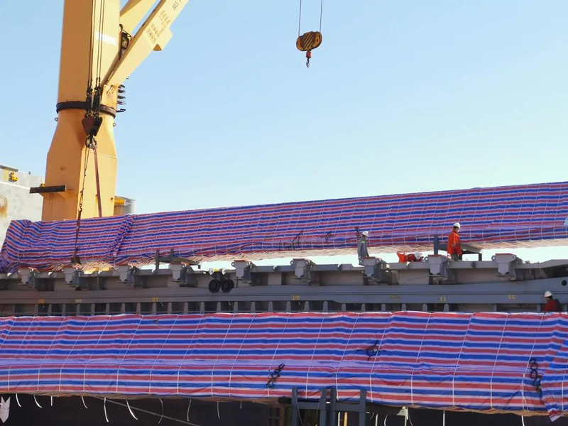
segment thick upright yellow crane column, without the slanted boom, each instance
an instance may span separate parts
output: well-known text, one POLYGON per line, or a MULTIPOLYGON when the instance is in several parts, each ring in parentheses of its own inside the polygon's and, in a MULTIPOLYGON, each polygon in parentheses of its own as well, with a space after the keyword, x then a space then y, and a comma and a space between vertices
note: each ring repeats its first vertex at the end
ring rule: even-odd
MULTIPOLYGON (((87 87, 104 79, 119 60, 121 30, 119 0, 65 0, 58 91, 58 125, 45 170, 45 186, 58 192, 42 192, 43 220, 76 219, 84 184, 82 217, 98 216, 93 152, 85 145, 82 126, 87 87), (87 179, 84 165, 87 160, 87 179), (65 186, 62 190, 61 186, 65 186), (52 188, 57 189, 57 188, 52 188)), ((116 148, 114 146, 115 88, 102 93, 102 125, 97 134, 103 216, 114 212, 116 148)))

